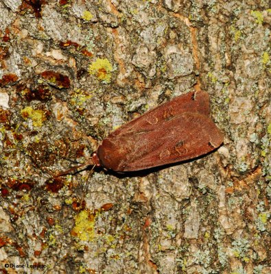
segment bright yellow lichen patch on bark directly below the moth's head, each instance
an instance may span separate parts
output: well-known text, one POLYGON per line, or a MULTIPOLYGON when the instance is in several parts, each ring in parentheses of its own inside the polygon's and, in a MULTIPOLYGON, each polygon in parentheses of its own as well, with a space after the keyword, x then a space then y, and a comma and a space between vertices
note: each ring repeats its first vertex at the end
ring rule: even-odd
POLYGON ((75 218, 75 226, 71 235, 79 240, 91 242, 95 237, 95 215, 87 210, 81 211, 75 218))

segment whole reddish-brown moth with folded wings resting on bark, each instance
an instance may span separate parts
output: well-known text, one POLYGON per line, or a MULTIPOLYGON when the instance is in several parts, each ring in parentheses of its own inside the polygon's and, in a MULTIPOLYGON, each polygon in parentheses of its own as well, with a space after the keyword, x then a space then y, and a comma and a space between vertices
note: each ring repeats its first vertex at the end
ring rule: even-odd
POLYGON ((102 166, 119 173, 140 171, 197 158, 222 142, 220 129, 209 117, 208 93, 189 92, 121 125, 85 164, 71 170, 102 166))

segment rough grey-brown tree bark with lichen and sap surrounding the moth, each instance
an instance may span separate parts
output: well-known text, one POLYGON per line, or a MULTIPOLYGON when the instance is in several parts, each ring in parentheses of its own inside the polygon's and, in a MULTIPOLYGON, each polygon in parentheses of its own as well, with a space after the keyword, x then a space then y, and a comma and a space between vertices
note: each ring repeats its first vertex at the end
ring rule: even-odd
POLYGON ((0 270, 271 273, 270 20, 267 0, 1 0, 0 270), (200 89, 214 153, 50 179, 200 89))

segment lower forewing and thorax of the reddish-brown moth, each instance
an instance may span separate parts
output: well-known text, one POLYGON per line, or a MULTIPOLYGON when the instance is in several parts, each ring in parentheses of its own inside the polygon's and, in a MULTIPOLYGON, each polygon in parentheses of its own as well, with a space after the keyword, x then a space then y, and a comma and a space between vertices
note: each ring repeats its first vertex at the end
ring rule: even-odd
POLYGON ((196 158, 223 142, 209 116, 198 112, 183 112, 147 129, 125 138, 108 136, 98 149, 102 164, 115 171, 138 171, 196 158))

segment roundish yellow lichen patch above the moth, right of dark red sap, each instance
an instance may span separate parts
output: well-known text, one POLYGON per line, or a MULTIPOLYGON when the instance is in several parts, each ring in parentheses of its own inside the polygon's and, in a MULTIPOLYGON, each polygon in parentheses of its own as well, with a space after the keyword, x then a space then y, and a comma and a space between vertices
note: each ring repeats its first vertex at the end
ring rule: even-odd
POLYGON ((97 60, 95 62, 92 62, 89 66, 89 74, 95 75, 99 79, 99 81, 102 81, 105 84, 110 83, 112 71, 113 66, 106 58, 97 58, 97 60))

